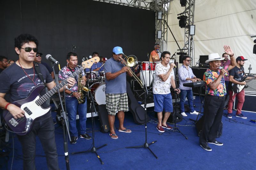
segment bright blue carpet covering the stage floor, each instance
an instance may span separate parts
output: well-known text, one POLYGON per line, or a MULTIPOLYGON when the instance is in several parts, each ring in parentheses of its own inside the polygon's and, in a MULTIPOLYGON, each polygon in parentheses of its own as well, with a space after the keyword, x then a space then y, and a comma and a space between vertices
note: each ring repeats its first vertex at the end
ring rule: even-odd
MULTIPOLYGON (((199 110, 199 104, 196 103, 196 110, 199 110)), ((235 117, 228 119, 225 115, 222 117, 223 133, 219 140, 224 143, 223 146, 209 144, 212 152, 207 152, 199 145, 199 137, 197 136, 195 123, 191 119, 196 119, 197 115, 190 115, 177 123, 180 131, 183 132, 188 140, 178 132, 168 131, 162 135, 156 129, 155 113, 153 108, 148 108, 148 115, 151 121, 148 125, 148 143, 157 141, 150 145, 150 149, 156 154, 156 159, 153 154, 145 148, 126 149, 127 146, 143 145, 145 142, 145 127, 144 125, 135 124, 130 112, 125 114, 125 127, 132 130, 132 133, 123 133, 116 130, 118 139, 111 139, 108 133, 100 132, 100 124, 98 117, 95 117, 95 147, 103 144, 107 146, 98 150, 100 158, 104 165, 100 164, 99 159, 94 153, 76 154, 71 152, 79 152, 92 148, 92 140, 78 138, 76 144, 69 144, 69 163, 70 169, 255 169, 255 123, 250 122, 250 119, 255 120, 256 114, 243 112, 247 119, 235 117)), ((227 111, 224 110, 224 114, 227 111)), ((53 118, 56 113, 52 112, 53 118)), ((55 119, 54 119, 55 120, 55 119)), ((66 169, 64 150, 63 150, 63 131, 59 124, 56 124, 56 143, 59 154, 59 167, 66 169)), ((118 119, 116 118, 115 126, 118 129, 118 119)), ((172 125, 173 126, 173 125, 172 125)), ((88 134, 92 136, 91 118, 87 119, 88 134)), ((20 143, 14 135, 14 159, 12 169, 22 169, 22 152, 20 143)), ((10 150, 8 162, 4 162, 1 157, 3 169, 10 169, 12 163, 12 135, 8 143, 10 150)), ((39 170, 47 169, 44 151, 37 138, 36 145, 36 168, 39 170)))

